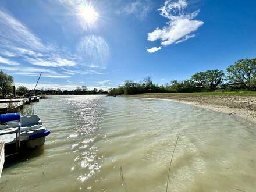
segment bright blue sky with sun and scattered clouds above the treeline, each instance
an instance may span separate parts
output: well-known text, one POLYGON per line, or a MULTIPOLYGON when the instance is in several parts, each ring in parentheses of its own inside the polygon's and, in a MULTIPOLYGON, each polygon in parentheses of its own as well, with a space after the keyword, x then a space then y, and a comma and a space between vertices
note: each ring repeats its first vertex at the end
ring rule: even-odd
POLYGON ((17 86, 187 79, 256 55, 254 0, 0 2, 0 70, 17 86))

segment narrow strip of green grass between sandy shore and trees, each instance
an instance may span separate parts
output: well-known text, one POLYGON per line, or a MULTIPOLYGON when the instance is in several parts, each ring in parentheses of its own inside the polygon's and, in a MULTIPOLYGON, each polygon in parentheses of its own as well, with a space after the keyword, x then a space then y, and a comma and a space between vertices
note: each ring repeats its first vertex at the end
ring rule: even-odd
POLYGON ((256 97, 256 91, 223 91, 223 92, 196 92, 196 93, 144 93, 140 94, 141 96, 146 95, 154 95, 154 96, 178 96, 178 95, 184 95, 184 96, 192 96, 192 95, 223 95, 223 96, 254 96, 256 97))

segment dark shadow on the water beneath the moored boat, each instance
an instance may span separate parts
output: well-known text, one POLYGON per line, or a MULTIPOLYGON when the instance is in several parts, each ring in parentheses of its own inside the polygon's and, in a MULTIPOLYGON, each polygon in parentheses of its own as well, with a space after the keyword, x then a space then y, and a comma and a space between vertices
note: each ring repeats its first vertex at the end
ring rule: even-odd
POLYGON ((34 149, 22 148, 20 149, 19 154, 5 157, 5 164, 3 168, 15 166, 18 163, 28 161, 29 159, 33 159, 42 154, 44 154, 44 145, 34 149))

